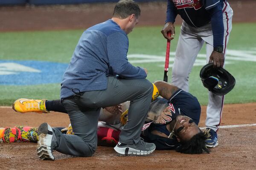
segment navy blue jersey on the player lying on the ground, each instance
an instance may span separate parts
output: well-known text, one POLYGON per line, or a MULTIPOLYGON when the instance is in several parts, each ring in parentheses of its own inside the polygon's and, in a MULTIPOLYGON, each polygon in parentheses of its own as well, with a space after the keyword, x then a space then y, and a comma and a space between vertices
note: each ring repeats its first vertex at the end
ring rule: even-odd
POLYGON ((147 121, 154 122, 143 130, 141 136, 146 142, 156 144, 157 150, 175 149, 179 146, 175 137, 169 139, 154 135, 151 131, 157 130, 169 136, 170 132, 166 129, 166 123, 171 122, 178 115, 189 116, 197 125, 201 115, 201 106, 197 98, 181 89, 176 91, 169 101, 164 98, 157 98, 151 103, 147 121))

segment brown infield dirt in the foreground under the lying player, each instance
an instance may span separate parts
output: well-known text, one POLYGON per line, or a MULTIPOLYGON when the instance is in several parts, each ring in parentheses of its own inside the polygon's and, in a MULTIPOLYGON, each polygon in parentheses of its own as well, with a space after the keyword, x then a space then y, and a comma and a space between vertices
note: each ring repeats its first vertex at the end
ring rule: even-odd
MULTIPOLYGON (((202 107, 199 125, 204 127, 206 107, 202 107)), ((48 114, 16 113, 11 108, 0 108, 0 127, 26 125, 38 127, 42 122, 54 126, 67 126, 67 114, 52 112, 48 114)), ((224 105, 223 125, 242 125, 256 123, 256 103, 224 105)), ((220 128, 219 146, 210 154, 187 155, 175 151, 155 151, 150 156, 118 156, 112 147, 98 147, 90 158, 66 156, 54 152, 55 161, 41 161, 36 155, 34 143, 0 144, 0 169, 117 169, 117 170, 255 170, 256 165, 256 126, 220 128)))

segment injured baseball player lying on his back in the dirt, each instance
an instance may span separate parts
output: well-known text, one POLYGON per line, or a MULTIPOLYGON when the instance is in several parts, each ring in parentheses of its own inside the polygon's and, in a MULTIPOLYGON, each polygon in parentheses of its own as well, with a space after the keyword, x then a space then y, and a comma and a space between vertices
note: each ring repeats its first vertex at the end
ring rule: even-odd
MULTIPOLYGON (((127 108, 127 102, 123 103, 122 109, 125 110, 127 108)), ((13 109, 20 113, 31 111, 67 113, 60 100, 17 99, 13 104, 13 109)), ((120 105, 102 109, 99 121, 106 123, 98 125, 99 145, 114 146, 118 141, 119 124, 124 125, 126 121, 129 121, 127 111, 123 112, 121 116, 120 113, 122 113, 120 105)), ((154 82, 152 102, 141 137, 146 142, 154 143, 157 150, 177 150, 181 153, 190 154, 209 153, 205 145, 205 140, 209 138, 209 130, 201 131, 199 129, 200 115, 201 107, 195 96, 166 82, 154 82), (159 95, 163 98, 158 97, 159 95)), ((71 126, 59 128, 62 129, 63 133, 76 134, 72 132, 71 126)), ((37 142, 37 137, 37 129, 32 127, 2 129, 3 142, 37 142)))

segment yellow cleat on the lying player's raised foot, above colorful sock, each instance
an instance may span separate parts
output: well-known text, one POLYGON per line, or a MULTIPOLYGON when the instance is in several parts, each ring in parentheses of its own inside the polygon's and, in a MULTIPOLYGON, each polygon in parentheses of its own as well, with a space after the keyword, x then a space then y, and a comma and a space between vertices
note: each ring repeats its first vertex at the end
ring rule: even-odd
POLYGON ((34 99, 17 99, 12 104, 12 109, 16 112, 27 113, 27 112, 37 112, 37 113, 49 113, 45 107, 45 99, 34 100, 34 99))

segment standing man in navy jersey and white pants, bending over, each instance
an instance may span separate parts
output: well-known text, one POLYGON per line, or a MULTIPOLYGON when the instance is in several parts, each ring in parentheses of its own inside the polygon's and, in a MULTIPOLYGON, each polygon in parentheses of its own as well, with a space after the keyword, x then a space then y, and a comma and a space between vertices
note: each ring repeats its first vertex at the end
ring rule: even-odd
MULTIPOLYGON (((224 67, 233 10, 226 0, 168 0, 166 24, 161 31, 168 40, 175 36, 177 14, 180 14, 183 23, 172 68, 172 84, 189 91, 189 74, 204 42, 207 63, 224 67), (172 37, 167 36, 169 31, 172 37)), ((206 140, 207 147, 218 146, 216 132, 221 122, 223 104, 224 96, 209 92, 206 126, 210 129, 211 137, 206 140)))

